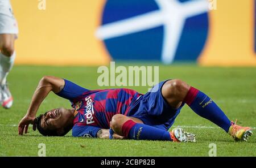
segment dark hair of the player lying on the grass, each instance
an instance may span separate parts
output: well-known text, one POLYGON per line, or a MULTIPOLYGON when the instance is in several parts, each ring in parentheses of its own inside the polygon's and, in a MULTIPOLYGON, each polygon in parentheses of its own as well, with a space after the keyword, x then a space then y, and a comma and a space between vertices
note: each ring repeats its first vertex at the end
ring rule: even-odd
MULTIPOLYGON (((47 114, 47 113, 46 113, 47 114)), ((42 121, 42 117, 46 114, 40 114, 36 119, 35 119, 35 124, 36 124, 36 128, 38 128, 38 131, 43 135, 43 136, 64 136, 66 135, 71 129, 69 127, 64 128, 64 132, 59 134, 57 133, 57 129, 56 130, 49 130, 49 129, 44 129, 41 127, 41 121, 42 121)))

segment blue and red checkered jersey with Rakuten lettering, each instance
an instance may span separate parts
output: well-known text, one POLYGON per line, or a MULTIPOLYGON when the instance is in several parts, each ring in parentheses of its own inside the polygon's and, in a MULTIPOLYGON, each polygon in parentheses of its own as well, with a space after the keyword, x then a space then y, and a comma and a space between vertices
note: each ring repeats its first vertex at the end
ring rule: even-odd
POLYGON ((96 137, 100 128, 109 129, 115 114, 133 115, 136 111, 130 108, 142 94, 123 88, 90 91, 65 80, 63 90, 57 95, 71 101, 71 106, 78 112, 72 135, 96 137))

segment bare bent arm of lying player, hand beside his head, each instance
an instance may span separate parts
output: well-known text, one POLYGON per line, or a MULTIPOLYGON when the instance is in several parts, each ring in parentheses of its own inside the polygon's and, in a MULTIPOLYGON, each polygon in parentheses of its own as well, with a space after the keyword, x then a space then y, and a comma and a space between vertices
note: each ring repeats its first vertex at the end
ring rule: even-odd
MULTIPOLYGON (((47 97, 49 92, 58 93, 63 89, 65 82, 63 79, 54 76, 44 76, 39 81, 38 87, 36 88, 30 106, 28 107, 27 114, 23 117, 22 120, 19 122, 18 130, 19 135, 23 135, 27 133, 28 125, 33 124, 36 113, 39 109, 39 106, 42 104, 43 100, 47 97)), ((35 126, 33 127, 35 130, 35 126)))

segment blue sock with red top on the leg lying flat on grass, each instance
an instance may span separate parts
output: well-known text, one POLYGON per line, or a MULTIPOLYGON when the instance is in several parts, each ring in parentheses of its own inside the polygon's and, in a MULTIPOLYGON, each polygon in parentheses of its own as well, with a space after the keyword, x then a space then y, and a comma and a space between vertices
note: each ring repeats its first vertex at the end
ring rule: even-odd
POLYGON ((127 120, 123 124, 122 132, 129 139, 172 141, 170 132, 146 124, 135 123, 133 120, 127 120))

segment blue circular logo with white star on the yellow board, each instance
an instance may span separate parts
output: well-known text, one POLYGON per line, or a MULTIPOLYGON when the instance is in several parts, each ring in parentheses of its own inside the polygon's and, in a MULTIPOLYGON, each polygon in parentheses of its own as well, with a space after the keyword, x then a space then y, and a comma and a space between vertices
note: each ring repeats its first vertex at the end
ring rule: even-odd
POLYGON ((196 61, 208 35, 207 0, 106 1, 96 36, 113 59, 196 61))

